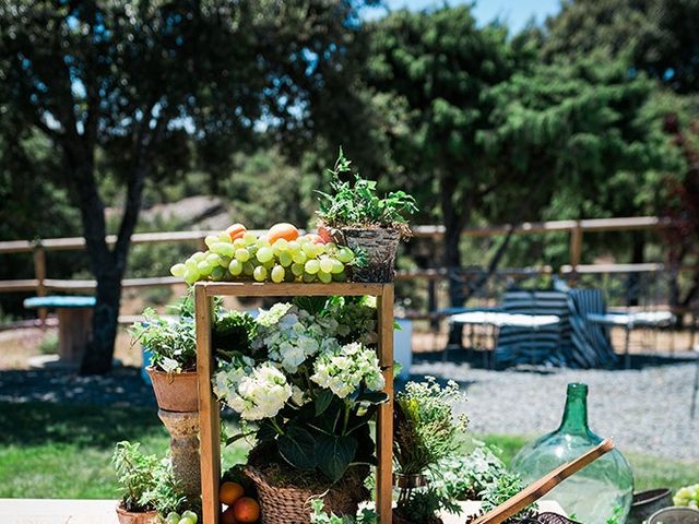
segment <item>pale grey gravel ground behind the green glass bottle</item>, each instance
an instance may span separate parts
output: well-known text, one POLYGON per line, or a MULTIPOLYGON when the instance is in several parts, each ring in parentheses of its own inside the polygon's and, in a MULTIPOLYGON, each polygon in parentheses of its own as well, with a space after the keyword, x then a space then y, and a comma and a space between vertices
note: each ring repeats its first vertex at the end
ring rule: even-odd
POLYGON ((411 372, 459 382, 467 396, 459 410, 469 415, 474 432, 534 437, 553 431, 560 422, 567 384, 584 382, 595 433, 613 437, 621 450, 699 460, 699 413, 689 419, 694 361, 663 359, 673 364, 631 370, 489 371, 450 360, 418 356, 411 372))

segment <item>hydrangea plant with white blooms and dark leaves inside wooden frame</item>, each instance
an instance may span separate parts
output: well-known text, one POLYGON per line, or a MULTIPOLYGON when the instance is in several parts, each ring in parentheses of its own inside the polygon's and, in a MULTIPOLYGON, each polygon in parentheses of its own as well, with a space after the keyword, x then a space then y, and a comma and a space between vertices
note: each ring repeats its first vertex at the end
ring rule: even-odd
POLYGON ((276 303, 254 320, 250 352, 218 361, 214 393, 240 416, 242 434, 256 436, 258 466, 309 479, 320 474, 332 484, 351 464, 375 461, 368 422, 387 401, 383 376, 370 344, 345 341, 376 340, 368 331, 376 325, 348 332, 335 320, 366 307, 341 299, 276 303))

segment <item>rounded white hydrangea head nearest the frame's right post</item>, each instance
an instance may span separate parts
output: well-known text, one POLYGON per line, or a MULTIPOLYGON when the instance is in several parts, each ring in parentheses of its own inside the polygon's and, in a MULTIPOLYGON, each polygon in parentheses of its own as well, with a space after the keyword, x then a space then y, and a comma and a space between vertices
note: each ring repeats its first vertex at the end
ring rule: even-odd
POLYGON ((359 343, 329 345, 316 360, 313 370, 310 379, 341 398, 354 393, 362 381, 371 391, 380 391, 384 385, 376 353, 359 343))

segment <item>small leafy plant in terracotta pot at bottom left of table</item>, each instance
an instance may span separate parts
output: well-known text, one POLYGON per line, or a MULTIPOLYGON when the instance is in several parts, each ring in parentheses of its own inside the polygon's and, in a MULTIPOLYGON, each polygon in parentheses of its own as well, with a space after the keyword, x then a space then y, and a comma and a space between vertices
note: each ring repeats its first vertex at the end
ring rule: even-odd
POLYGON ((123 495, 117 505, 120 524, 157 524, 159 517, 150 498, 155 487, 155 471, 158 460, 144 455, 139 443, 128 441, 116 445, 111 463, 123 495))

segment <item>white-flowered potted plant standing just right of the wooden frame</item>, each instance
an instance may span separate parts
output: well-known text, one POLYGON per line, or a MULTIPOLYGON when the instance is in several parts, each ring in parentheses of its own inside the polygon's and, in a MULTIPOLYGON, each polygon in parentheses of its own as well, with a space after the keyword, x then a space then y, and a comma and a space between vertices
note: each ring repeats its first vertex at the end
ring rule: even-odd
POLYGON ((394 484, 400 490, 393 512, 396 523, 438 524, 439 511, 459 512, 446 490, 429 486, 427 474, 460 448, 469 419, 454 416, 453 404, 462 398, 455 382, 441 388, 433 377, 425 382, 408 382, 395 395, 394 484))

